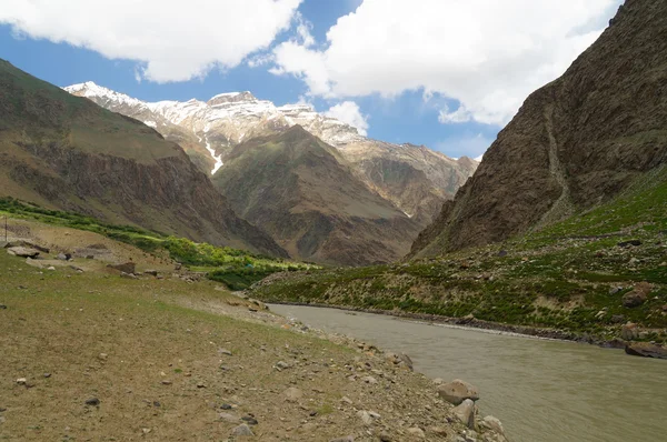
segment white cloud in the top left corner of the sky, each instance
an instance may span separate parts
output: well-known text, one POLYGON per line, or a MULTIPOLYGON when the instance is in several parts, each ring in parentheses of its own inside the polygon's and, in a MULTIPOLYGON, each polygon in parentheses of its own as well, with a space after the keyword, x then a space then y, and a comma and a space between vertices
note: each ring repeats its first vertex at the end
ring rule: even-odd
POLYGON ((301 1, 0 0, 0 23, 19 36, 140 61, 147 80, 186 81, 268 48, 301 1))

